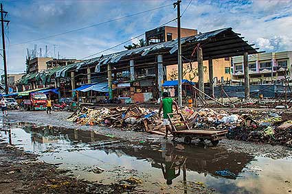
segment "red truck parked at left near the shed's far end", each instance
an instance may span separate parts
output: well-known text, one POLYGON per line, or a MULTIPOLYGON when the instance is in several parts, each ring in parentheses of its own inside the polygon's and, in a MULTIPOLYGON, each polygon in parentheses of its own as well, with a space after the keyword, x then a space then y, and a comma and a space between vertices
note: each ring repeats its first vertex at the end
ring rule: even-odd
POLYGON ((47 96, 43 93, 30 93, 30 99, 23 100, 25 110, 47 110, 47 96))

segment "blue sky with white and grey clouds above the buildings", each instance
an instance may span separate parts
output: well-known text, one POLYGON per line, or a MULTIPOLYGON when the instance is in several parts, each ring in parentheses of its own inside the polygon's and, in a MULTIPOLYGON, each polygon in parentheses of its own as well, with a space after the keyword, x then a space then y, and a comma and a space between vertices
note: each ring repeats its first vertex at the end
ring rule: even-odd
MULTIPOLYGON (((34 44, 38 51, 42 48, 43 55, 47 45, 49 56, 54 56, 55 45, 56 55, 59 51, 63 58, 82 59, 131 38, 133 40, 124 45, 137 43, 144 36, 135 36, 176 18, 177 10, 171 5, 174 2, 1 1, 3 9, 8 12, 5 19, 10 20, 5 27, 8 73, 25 71, 26 48, 34 49, 34 44), (152 10, 155 8, 159 9, 152 10), (152 11, 144 12, 146 10, 152 11), (138 12, 144 13, 112 21, 138 12), (105 21, 110 22, 102 23, 105 21), (96 25, 98 23, 102 24, 96 25), (91 25, 94 26, 88 27, 91 25), (82 27, 87 28, 53 36, 82 27), (53 37, 44 38, 47 36, 53 37)), ((232 27, 234 32, 242 34, 261 51, 292 50, 292 1, 182 0, 181 13, 184 10, 181 27, 198 29, 199 32, 232 27)), ((176 26, 177 22, 172 21, 168 25, 176 26)), ((121 45, 102 54, 123 49, 121 45)), ((0 62, 1 69, 3 62, 0 62)))

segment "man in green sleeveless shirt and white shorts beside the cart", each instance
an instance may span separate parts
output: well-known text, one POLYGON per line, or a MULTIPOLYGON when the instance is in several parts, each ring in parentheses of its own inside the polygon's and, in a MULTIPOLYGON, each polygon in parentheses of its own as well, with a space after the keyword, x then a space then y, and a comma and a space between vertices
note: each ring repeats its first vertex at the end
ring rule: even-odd
POLYGON ((175 104, 175 109, 177 110, 177 112, 179 112, 179 107, 177 106, 177 103, 172 98, 168 97, 168 93, 164 92, 162 94, 162 101, 160 103, 158 115, 160 118, 161 117, 160 113, 161 113, 161 110, 163 109, 164 110, 164 123, 163 123, 163 125, 166 126, 165 138, 167 138, 167 136, 168 136, 168 131, 171 130, 170 129, 170 121, 168 120, 168 113, 173 112, 173 110, 172 110, 173 104, 175 104))

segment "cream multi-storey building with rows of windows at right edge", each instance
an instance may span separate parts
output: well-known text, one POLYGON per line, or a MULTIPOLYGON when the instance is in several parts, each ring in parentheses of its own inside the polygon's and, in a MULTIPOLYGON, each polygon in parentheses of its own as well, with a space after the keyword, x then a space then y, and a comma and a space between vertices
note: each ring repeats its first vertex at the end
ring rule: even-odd
MULTIPOLYGON (((243 56, 232 58, 234 81, 244 82, 243 56)), ((292 51, 257 53, 249 55, 249 77, 251 84, 267 84, 291 76, 292 51)))

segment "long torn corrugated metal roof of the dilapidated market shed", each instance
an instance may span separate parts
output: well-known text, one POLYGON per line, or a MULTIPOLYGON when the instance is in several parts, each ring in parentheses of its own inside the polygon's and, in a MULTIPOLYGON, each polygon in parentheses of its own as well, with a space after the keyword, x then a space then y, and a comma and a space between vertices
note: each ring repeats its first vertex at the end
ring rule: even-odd
MULTIPOLYGON (((203 60, 242 56, 245 52, 249 54, 258 53, 256 51, 258 48, 252 47, 253 45, 249 45, 243 38, 240 37, 240 34, 233 32, 231 27, 184 37, 181 38, 182 56, 188 59, 185 62, 196 61, 196 54, 192 56, 192 53, 197 45, 200 45, 203 49, 203 60)), ((156 61, 157 54, 164 55, 164 65, 177 64, 177 39, 156 45, 111 53, 105 56, 102 55, 82 62, 68 64, 67 66, 60 66, 56 69, 42 72, 44 74, 27 75, 21 81, 27 84, 28 80, 38 77, 43 81, 49 79, 52 75, 55 75, 55 77, 65 77, 68 71, 78 71, 87 66, 96 66, 96 73, 100 72, 100 67, 106 64, 127 68, 131 59, 135 60, 135 64, 153 63, 156 61)))

